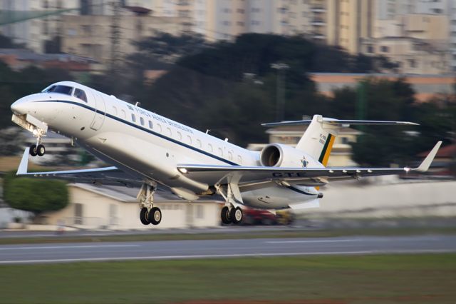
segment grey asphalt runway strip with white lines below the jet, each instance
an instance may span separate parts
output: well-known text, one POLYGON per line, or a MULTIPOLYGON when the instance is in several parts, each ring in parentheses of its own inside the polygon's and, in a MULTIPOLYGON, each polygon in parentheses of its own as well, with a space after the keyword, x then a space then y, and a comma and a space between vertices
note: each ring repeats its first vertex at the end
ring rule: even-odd
POLYGON ((456 252, 456 235, 0 245, 0 265, 287 255, 456 252))

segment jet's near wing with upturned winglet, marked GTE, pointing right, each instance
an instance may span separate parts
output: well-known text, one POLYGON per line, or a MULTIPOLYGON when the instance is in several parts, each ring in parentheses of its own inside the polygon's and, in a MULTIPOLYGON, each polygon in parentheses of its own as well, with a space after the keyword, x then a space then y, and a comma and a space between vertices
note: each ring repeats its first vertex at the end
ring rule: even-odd
POLYGON ((441 141, 427 155, 418 168, 353 168, 353 167, 323 167, 323 168, 281 168, 281 167, 247 167, 247 166, 206 166, 178 165, 177 169, 188 178, 213 185, 224 178, 235 178, 239 188, 262 188, 269 183, 294 183, 307 186, 321 186, 331 180, 360 178, 362 176, 383 176, 410 171, 425 172, 435 158, 441 141))

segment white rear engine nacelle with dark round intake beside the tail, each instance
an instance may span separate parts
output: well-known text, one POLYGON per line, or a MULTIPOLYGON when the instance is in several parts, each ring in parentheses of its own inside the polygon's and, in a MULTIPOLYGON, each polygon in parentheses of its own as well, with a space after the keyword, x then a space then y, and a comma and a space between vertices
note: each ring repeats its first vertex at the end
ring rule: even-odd
POLYGON ((302 168, 311 161, 310 156, 303 151, 280 143, 272 143, 264 147, 259 159, 261 166, 289 168, 302 168))

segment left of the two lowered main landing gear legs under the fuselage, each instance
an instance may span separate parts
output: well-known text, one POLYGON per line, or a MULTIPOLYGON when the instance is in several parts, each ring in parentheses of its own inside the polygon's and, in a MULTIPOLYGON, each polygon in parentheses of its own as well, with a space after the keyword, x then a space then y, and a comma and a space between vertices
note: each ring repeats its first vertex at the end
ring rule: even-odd
POLYGON ((143 225, 158 225, 162 221, 162 211, 154 207, 153 196, 157 190, 155 183, 143 183, 138 193, 140 198, 140 221, 143 225))

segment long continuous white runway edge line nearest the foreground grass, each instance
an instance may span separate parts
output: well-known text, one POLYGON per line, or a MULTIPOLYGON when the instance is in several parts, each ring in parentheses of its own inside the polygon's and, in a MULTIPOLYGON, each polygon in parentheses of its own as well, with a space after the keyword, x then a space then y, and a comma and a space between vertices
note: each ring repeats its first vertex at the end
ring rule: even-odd
POLYGON ((333 251, 314 253, 233 253, 214 255, 155 255, 155 256, 132 256, 132 257, 106 257, 106 258, 61 258, 49 260, 1 260, 4 264, 30 264, 30 263, 70 263, 70 262, 96 262, 110 260, 185 260, 200 258, 248 258, 268 256, 298 256, 298 255, 371 255, 371 254, 404 254, 404 253, 453 253, 455 250, 447 249, 418 249, 418 250, 363 250, 363 251, 333 251))

